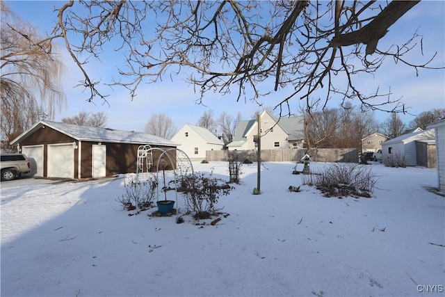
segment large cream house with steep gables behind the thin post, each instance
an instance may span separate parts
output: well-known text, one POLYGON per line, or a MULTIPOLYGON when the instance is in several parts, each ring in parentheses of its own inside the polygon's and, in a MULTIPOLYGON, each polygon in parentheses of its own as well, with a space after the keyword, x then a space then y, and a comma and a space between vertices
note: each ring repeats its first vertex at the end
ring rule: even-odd
MULTIPOLYGON (((261 150, 302 148, 305 140, 305 126, 302 116, 276 119, 269 111, 264 110, 261 120, 261 150)), ((257 143, 254 136, 258 134, 257 120, 241 120, 236 127, 229 150, 254 150, 257 143)))

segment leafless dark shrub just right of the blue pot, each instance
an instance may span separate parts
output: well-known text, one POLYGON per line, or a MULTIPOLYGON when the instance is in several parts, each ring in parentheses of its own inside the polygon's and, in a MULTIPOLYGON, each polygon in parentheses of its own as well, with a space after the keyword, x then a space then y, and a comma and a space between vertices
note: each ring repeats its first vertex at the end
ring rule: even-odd
POLYGON ((194 172, 182 177, 181 189, 188 211, 195 219, 204 219, 210 218, 218 210, 216 209, 218 199, 221 195, 229 195, 232 187, 216 178, 194 172))

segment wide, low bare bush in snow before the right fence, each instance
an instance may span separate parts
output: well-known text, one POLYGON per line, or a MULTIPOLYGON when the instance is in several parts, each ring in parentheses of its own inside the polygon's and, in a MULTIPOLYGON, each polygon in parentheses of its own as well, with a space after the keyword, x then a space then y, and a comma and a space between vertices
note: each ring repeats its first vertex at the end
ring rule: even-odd
POLYGON ((376 183, 369 166, 355 163, 334 163, 324 172, 302 176, 302 184, 316 186, 325 197, 370 198, 376 183))

